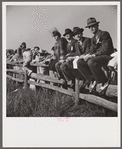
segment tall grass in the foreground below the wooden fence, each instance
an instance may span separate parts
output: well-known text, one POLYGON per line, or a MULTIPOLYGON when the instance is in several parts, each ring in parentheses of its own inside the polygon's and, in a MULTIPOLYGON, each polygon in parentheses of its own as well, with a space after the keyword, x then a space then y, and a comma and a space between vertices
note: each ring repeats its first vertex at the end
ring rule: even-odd
POLYGON ((114 117, 116 112, 80 100, 74 106, 74 98, 40 88, 38 91, 23 89, 7 80, 7 117, 114 117), (13 92, 19 88, 17 92, 13 92))

